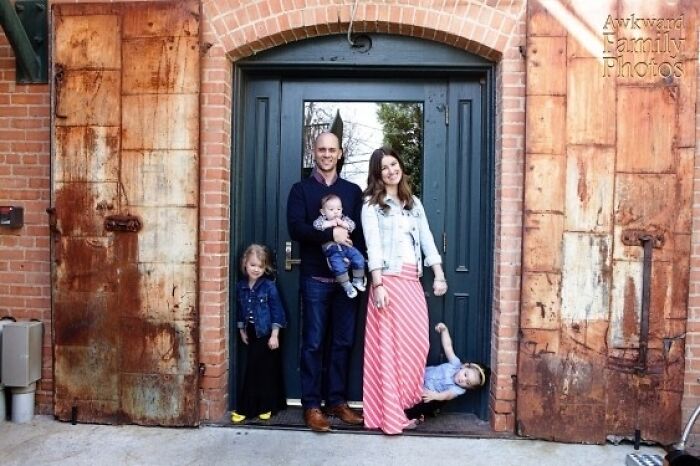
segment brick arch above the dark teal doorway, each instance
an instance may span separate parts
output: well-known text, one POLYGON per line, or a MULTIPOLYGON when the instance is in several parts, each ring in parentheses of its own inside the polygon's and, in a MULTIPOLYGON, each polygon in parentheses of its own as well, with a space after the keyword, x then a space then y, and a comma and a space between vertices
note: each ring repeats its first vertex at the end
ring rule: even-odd
MULTIPOLYGON (((486 5, 454 2, 446 8, 389 2, 359 3, 353 20, 355 32, 407 35, 445 43, 492 61, 502 56, 516 27, 512 14, 486 5)), ((306 5, 305 0, 246 2, 221 11, 216 0, 205 1, 214 35, 233 61, 296 40, 347 32, 352 0, 337 5, 306 5)))

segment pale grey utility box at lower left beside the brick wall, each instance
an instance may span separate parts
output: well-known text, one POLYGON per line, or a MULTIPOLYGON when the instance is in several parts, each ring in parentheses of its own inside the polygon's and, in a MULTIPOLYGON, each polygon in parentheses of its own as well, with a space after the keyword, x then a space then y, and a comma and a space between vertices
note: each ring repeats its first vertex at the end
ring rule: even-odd
POLYGON ((26 387, 41 378, 41 322, 8 322, 2 329, 0 380, 26 387))

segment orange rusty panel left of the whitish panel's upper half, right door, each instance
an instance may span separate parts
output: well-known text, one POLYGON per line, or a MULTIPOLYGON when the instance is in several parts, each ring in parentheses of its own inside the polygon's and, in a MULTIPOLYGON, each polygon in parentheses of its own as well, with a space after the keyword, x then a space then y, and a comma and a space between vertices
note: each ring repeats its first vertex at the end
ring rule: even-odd
POLYGON ((524 222, 524 270, 539 272, 561 270, 564 216, 526 213, 524 222))

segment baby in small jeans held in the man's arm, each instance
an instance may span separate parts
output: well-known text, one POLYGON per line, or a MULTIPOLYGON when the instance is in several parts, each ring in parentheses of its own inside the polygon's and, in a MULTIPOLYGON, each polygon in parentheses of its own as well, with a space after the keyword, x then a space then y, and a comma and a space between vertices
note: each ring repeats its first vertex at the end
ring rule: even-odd
MULTIPOLYGON (((335 194, 328 194, 321 199, 321 215, 314 220, 314 228, 325 230, 326 228, 341 227, 352 232, 355 222, 347 215, 343 215, 343 203, 335 194)), ((336 281, 343 287, 348 298, 357 296, 357 288, 365 291, 365 258, 360 251, 352 246, 329 241, 323 244, 323 253, 328 260, 328 266, 333 271, 336 281), (348 275, 348 265, 352 269, 352 282, 348 275)))

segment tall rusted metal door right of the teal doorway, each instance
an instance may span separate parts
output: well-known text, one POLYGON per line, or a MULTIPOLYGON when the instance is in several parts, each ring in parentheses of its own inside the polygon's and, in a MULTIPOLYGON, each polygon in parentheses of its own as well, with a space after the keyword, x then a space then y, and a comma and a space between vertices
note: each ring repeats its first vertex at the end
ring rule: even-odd
POLYGON ((681 427, 697 6, 555 3, 528 2, 518 430, 669 444, 681 427), (587 40, 574 17, 607 35, 587 40), (635 17, 682 25, 666 37, 681 49, 626 50, 657 37, 635 17))

